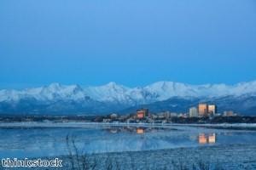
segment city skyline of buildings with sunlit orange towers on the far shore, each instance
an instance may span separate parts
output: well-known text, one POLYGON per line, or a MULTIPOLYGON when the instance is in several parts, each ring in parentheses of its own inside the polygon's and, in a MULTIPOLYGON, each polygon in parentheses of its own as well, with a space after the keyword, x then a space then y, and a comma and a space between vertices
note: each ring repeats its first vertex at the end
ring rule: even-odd
MULTIPOLYGON (((212 120, 214 117, 225 116, 237 116, 233 111, 224 111, 224 114, 221 115, 218 113, 217 105, 209 105, 200 103, 197 106, 189 108, 189 112, 171 112, 171 111, 161 111, 157 113, 149 113, 147 108, 139 109, 129 115, 118 115, 110 114, 104 116, 102 122, 128 122, 128 123, 137 123, 137 122, 147 122, 147 123, 168 123, 168 122, 207 122, 212 120), (191 117, 191 119, 189 119, 191 117), (194 118, 195 117, 195 118, 194 118)), ((218 119, 220 121, 221 119, 218 119)), ((101 120, 99 120, 101 122, 101 120)))

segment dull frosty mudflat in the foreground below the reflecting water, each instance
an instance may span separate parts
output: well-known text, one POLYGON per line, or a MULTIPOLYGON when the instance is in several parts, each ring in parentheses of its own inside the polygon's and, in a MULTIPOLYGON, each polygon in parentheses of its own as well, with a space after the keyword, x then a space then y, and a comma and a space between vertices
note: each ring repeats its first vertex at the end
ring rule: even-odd
MULTIPOLYGON (((221 144, 122 154, 97 154, 88 156, 88 159, 90 158, 90 165, 96 165, 96 169, 108 169, 110 164, 110 169, 124 170, 253 170, 256 169, 256 144, 221 144)), ((64 157, 63 160, 66 162, 63 169, 70 167, 70 157, 64 157)))

